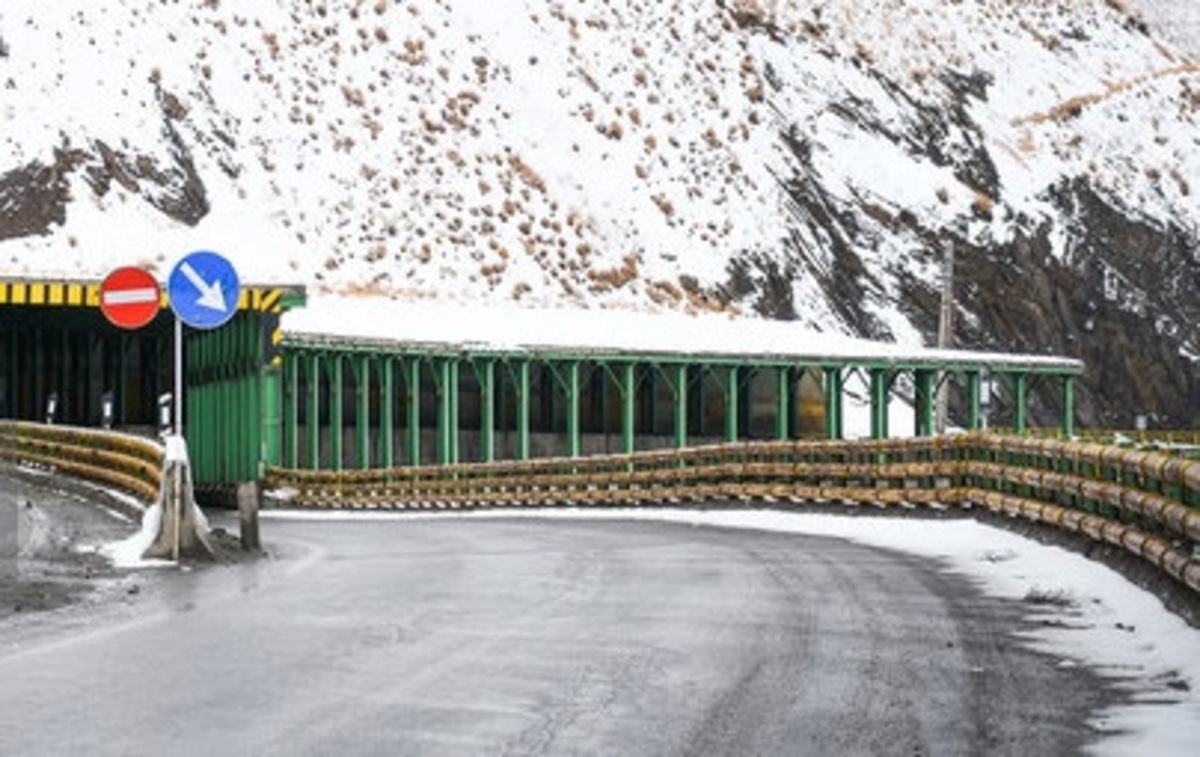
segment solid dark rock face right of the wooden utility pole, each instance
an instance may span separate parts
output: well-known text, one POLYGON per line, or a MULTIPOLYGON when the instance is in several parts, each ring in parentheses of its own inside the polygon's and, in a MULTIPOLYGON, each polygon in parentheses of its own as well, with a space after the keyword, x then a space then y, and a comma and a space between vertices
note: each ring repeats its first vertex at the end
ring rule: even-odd
MULTIPOLYGON (((985 248, 953 240, 955 344, 1080 358, 1076 407, 1087 426, 1128 428, 1144 415, 1152 426, 1195 427, 1200 366, 1181 355, 1200 343, 1195 240, 1128 217, 1082 181, 1056 199, 1075 220, 1070 260, 1054 257, 1048 223, 985 248)), ((937 296, 935 282, 901 277, 906 312, 930 340, 937 296)), ((1032 422, 1055 423, 1060 408, 1056 392, 1039 392, 1032 422)))

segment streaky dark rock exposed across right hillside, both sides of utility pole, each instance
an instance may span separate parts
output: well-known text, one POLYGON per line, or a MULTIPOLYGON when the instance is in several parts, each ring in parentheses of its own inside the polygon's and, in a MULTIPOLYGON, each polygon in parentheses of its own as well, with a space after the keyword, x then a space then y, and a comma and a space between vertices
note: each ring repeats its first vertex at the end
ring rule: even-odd
MULTIPOLYGON (((880 134, 938 166, 979 198, 971 212, 1008 217, 1003 187, 968 104, 985 100, 984 73, 947 72, 950 95, 941 108, 914 101, 888 80, 881 86, 913 114, 908 126, 884 124, 870 103, 848 95, 832 110, 859 128, 880 134)), ((863 304, 880 292, 854 252, 870 246, 870 233, 913 240, 913 256, 940 254, 955 246, 959 317, 954 343, 964 348, 1080 358, 1087 366, 1076 387, 1079 420, 1087 426, 1130 427, 1136 416, 1152 426, 1200 425, 1200 240, 1195 233, 1163 228, 1139 218, 1117 200, 1099 194, 1085 179, 1050 192, 1066 221, 1013 218, 1010 241, 977 246, 965 234, 944 236, 926 218, 881 205, 870 198, 846 200, 829 194, 811 161, 811 146, 797 130, 785 131, 793 162, 780 175, 790 198, 793 233, 782 242, 774 268, 763 260, 731 266, 731 288, 740 299, 754 283, 779 276, 808 276, 826 293, 840 319, 859 336, 889 338, 863 304), (1052 223, 1066 223, 1066 229, 1052 223), (1066 235, 1066 259, 1051 238, 1066 235), (820 248, 812 250, 812 240, 820 248), (782 262, 782 263, 780 263, 782 262)), ((910 260, 910 263, 913 263, 910 260)), ((926 263, 929 263, 926 260, 926 263)), ((900 284, 899 307, 932 344, 937 334, 937 282, 892 271, 900 284)), ((768 298, 769 299, 769 298, 768 298)), ((770 308, 757 308, 773 314, 770 308)), ((1057 387, 1031 396, 1031 422, 1054 425, 1061 416, 1057 387)))

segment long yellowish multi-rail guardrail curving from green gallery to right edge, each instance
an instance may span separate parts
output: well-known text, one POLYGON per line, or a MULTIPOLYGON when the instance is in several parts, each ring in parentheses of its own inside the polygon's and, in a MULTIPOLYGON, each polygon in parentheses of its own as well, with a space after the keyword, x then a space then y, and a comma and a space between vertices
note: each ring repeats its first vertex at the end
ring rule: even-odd
POLYGON ((968 433, 761 441, 372 470, 269 468, 290 506, 606 506, 726 499, 984 507, 1116 545, 1200 591, 1200 461, 968 433))

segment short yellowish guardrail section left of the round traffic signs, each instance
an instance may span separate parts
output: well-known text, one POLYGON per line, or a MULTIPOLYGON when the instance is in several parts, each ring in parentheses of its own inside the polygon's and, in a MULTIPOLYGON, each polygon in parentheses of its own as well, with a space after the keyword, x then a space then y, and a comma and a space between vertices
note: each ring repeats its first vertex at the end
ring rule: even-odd
POLYGON ((116 432, 0 421, 0 459, 58 470, 128 492, 158 498, 163 447, 144 437, 116 432))

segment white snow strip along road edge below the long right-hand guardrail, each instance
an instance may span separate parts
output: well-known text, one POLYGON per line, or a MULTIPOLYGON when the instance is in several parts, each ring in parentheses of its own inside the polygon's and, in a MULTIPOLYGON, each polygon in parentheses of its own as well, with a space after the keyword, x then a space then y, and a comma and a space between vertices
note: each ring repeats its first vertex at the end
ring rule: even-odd
POLYGON ((606 518, 810 534, 934 558, 991 596, 1027 601, 1048 620, 1028 642, 1061 665, 1087 665, 1133 692, 1133 704, 1102 713, 1109 733, 1097 755, 1190 757, 1200 745, 1200 631, 1116 571, 1063 549, 976 521, 758 510, 508 510, 446 513, 268 510, 269 519, 606 518), (1169 685, 1174 683, 1175 685, 1169 685), (1186 685, 1186 686, 1184 686, 1186 685))

